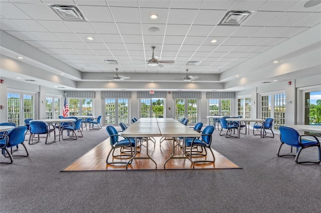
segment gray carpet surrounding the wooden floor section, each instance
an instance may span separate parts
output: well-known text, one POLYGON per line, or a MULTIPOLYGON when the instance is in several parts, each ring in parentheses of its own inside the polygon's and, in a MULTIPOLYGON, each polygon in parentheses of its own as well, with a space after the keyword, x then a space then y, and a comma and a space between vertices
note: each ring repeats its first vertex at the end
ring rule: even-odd
POLYGON ((0 165, 0 212, 321 212, 321 165, 277 157, 278 135, 216 130, 212 147, 242 169, 60 172, 106 137, 103 127, 78 140, 26 141, 29 157, 0 165))

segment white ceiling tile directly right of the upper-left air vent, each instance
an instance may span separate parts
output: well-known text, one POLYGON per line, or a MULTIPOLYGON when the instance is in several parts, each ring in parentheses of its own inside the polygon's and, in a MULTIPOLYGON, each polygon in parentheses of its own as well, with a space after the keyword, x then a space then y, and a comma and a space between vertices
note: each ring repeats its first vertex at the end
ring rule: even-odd
POLYGON ((107 6, 78 6, 81 13, 88 21, 113 22, 112 15, 107 6))

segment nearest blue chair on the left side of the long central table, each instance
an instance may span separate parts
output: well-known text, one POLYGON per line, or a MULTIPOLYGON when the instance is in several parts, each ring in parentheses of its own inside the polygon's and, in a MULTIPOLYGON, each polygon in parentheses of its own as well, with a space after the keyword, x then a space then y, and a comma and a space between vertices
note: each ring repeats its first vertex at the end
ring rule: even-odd
POLYGON ((108 125, 106 127, 106 130, 109 134, 109 139, 110 139, 110 146, 111 146, 111 149, 107 155, 107 158, 106 158, 106 163, 107 164, 115 164, 115 163, 126 163, 126 161, 112 161, 112 162, 108 162, 108 158, 109 158, 109 155, 110 153, 112 152, 112 157, 132 157, 132 147, 135 146, 135 140, 132 139, 132 138, 129 138, 129 137, 126 137, 125 139, 122 139, 122 140, 119 140, 119 134, 116 130, 116 128, 112 125, 108 125), (130 148, 130 154, 118 154, 118 155, 115 155, 114 154, 114 151, 116 148, 122 148, 122 147, 129 147, 130 148))

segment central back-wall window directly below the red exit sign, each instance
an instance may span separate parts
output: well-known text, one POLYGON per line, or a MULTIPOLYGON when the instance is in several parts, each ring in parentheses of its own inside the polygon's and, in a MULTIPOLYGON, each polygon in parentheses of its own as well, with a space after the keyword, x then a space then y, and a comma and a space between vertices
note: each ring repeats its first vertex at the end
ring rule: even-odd
POLYGON ((164 117, 164 98, 141 98, 140 117, 164 117))

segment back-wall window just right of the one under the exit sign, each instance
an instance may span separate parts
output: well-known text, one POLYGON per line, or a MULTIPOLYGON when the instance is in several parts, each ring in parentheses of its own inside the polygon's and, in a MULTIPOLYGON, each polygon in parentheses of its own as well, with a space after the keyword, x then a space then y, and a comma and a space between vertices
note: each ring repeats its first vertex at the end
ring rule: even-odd
POLYGON ((197 123, 197 99, 176 99, 175 119, 183 117, 189 119, 189 123, 197 123))

